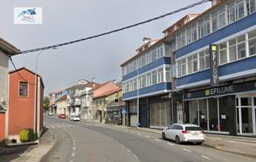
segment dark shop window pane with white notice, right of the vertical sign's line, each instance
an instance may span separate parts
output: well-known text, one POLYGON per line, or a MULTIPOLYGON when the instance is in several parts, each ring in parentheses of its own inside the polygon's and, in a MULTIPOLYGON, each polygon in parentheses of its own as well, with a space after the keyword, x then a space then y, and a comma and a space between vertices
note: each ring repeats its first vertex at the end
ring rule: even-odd
POLYGON ((229 130, 229 117, 227 115, 228 108, 226 106, 226 100, 224 97, 219 98, 219 113, 220 113, 220 131, 229 130))

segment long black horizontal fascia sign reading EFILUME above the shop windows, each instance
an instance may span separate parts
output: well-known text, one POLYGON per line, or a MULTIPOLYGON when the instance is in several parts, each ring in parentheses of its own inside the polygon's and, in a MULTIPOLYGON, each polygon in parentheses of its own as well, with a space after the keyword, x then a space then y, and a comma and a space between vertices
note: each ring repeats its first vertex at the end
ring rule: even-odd
POLYGON ((211 87, 208 89, 195 91, 195 92, 187 92, 185 95, 185 99, 194 99, 200 97, 207 97, 207 96, 220 96, 220 95, 227 95, 233 94, 237 92, 250 92, 256 91, 256 81, 247 82, 247 83, 237 83, 237 84, 230 84, 227 86, 221 87, 211 87))

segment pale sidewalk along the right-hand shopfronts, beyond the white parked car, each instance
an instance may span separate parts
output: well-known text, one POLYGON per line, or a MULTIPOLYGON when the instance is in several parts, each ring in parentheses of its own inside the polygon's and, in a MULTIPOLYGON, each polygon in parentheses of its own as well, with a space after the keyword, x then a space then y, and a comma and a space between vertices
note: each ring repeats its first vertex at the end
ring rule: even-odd
MULTIPOLYGON (((105 125, 102 123, 100 124, 105 125)), ((159 134, 160 137, 162 134, 162 130, 155 130, 142 127, 136 128, 129 126, 121 127, 126 127, 127 129, 132 130, 143 130, 154 134, 159 134)), ((213 147, 221 151, 228 151, 242 156, 250 156, 256 158, 256 138, 221 134, 206 134, 206 141, 203 143, 203 146, 213 147)))

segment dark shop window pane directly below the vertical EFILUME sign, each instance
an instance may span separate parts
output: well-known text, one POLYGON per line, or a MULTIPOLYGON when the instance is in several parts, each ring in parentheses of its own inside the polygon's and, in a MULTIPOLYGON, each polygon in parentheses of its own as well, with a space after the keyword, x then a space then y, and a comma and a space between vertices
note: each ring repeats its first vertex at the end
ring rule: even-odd
POLYGON ((218 124, 218 103, 216 98, 208 99, 209 128, 213 131, 219 130, 218 124))

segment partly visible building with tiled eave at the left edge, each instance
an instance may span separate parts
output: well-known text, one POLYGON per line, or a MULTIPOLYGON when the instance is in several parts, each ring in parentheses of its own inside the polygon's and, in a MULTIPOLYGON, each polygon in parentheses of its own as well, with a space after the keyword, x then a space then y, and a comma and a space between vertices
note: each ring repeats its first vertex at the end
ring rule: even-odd
POLYGON ((0 140, 8 138, 8 69, 9 56, 19 49, 0 38, 0 140))

